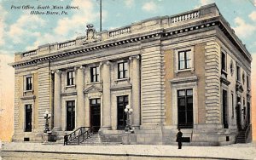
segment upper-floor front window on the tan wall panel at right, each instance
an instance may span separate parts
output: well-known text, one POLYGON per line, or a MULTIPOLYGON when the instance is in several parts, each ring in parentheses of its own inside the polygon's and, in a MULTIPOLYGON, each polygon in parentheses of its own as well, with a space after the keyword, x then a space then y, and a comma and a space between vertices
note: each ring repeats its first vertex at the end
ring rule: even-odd
POLYGON ((191 49, 178 52, 178 70, 191 68, 191 49))

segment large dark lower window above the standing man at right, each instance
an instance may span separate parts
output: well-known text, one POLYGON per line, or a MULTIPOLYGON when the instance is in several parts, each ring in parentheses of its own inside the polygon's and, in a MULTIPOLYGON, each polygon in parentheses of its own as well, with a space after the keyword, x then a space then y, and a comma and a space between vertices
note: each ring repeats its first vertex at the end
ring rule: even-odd
POLYGON ((181 129, 193 129, 193 90, 177 90, 177 123, 181 129))

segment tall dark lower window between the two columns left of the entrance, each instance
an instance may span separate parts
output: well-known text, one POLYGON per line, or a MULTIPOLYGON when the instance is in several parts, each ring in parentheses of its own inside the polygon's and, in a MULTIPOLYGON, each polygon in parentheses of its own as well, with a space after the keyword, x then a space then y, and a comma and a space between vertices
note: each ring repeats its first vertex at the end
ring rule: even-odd
POLYGON ((67 131, 75 128, 75 101, 67 101, 67 131))

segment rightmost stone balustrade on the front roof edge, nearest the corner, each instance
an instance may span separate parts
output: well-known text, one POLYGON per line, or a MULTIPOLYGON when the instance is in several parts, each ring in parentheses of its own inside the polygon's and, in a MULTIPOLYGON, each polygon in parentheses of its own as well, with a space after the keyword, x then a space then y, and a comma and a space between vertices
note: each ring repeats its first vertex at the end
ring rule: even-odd
POLYGON ((179 14, 173 17, 170 17, 170 23, 177 23, 180 21, 185 21, 185 20, 192 20, 200 17, 200 10, 197 10, 195 12, 187 13, 187 14, 179 14))

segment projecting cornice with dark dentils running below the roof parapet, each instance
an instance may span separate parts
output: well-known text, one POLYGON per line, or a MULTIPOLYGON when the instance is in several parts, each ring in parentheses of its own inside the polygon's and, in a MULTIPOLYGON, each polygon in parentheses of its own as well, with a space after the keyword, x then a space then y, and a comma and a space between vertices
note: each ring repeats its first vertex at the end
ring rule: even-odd
MULTIPOLYGON (((227 36, 230 39, 231 43, 234 43, 236 48, 239 51, 241 51, 241 53, 246 54, 244 49, 241 48, 241 45, 239 43, 237 43, 236 39, 230 35, 230 31, 228 31, 226 29, 223 22, 220 19, 214 17, 214 19, 196 21, 194 23, 190 23, 189 26, 186 25, 186 26, 183 26, 183 28, 181 28, 181 26, 178 26, 179 28, 177 28, 177 26, 165 28, 165 29, 160 28, 160 29, 157 29, 154 31, 146 31, 143 33, 128 35, 126 37, 119 37, 116 39, 107 40, 107 41, 100 42, 100 43, 98 43, 98 42, 90 43, 90 45, 87 45, 84 47, 79 46, 79 47, 73 48, 73 49, 57 51, 52 54, 40 55, 38 57, 35 56, 35 57, 32 57, 31 60, 15 62, 10 65, 13 67, 28 66, 28 65, 37 64, 39 62, 43 62, 46 60, 56 60, 56 59, 59 59, 62 57, 68 57, 68 56, 72 56, 72 55, 76 55, 76 54, 86 54, 86 53, 90 53, 90 52, 93 52, 96 50, 111 49, 113 47, 122 46, 122 45, 129 44, 129 43, 137 43, 137 42, 143 43, 143 40, 147 40, 147 39, 148 40, 156 40, 155 38, 157 38, 160 40, 161 38, 164 38, 164 37, 175 37, 178 35, 183 36, 189 32, 195 32, 198 30, 215 27, 215 26, 218 26, 220 28, 220 30, 224 32, 225 36, 227 36)), ((249 60, 251 60, 250 56, 247 56, 247 58, 249 60)))

